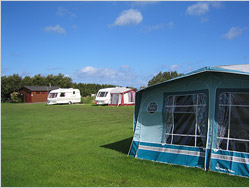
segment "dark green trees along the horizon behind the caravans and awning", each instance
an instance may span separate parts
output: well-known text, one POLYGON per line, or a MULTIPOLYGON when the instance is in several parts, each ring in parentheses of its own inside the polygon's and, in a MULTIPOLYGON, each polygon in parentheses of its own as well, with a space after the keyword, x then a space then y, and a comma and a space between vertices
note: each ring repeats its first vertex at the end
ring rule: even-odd
MULTIPOLYGON (((183 74, 178 74, 174 72, 160 72, 154 76, 148 82, 148 86, 158 84, 160 82, 181 76, 183 74)), ((108 84, 85 84, 85 83, 73 83, 72 79, 64 76, 63 74, 58 75, 48 75, 42 76, 41 74, 35 75, 33 77, 25 76, 22 78, 18 74, 13 74, 11 76, 2 76, 1 78, 1 101, 5 102, 10 99, 11 93, 17 91, 22 86, 58 86, 60 88, 77 88, 81 92, 81 96, 89 96, 95 94, 101 88, 115 87, 115 85, 108 84)), ((145 87, 145 86, 144 86, 145 87)), ((141 87, 143 88, 143 87, 141 87)))

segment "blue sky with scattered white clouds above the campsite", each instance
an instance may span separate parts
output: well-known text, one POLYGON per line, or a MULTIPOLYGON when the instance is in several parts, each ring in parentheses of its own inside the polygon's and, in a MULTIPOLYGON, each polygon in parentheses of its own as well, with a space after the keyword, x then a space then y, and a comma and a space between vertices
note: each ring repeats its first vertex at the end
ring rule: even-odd
POLYGON ((139 88, 249 63, 249 2, 1 2, 1 73, 139 88))

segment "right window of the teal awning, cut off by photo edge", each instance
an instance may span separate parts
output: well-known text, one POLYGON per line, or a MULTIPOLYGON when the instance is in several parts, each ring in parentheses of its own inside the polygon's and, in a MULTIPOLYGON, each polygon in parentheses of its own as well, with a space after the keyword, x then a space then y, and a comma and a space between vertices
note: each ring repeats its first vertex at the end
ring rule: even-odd
POLYGON ((217 149, 248 153, 249 94, 224 92, 217 100, 217 149))

